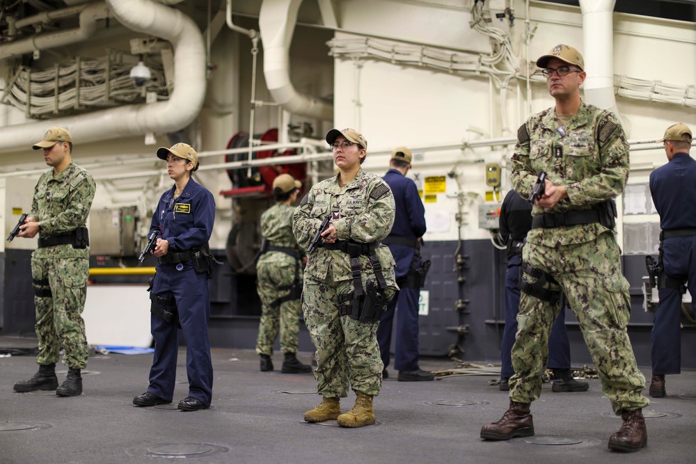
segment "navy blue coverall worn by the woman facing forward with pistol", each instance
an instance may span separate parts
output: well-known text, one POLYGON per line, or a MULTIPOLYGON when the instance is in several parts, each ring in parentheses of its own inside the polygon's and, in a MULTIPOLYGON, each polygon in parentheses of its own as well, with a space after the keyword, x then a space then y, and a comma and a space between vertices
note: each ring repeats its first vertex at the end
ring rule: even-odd
MULTIPOLYGON (((158 237, 169 242, 168 255, 207 246, 215 219, 215 200, 203 186, 189 179, 178 198, 174 198, 174 189, 172 187, 159 199, 150 226, 150 233, 156 230, 158 237)), ((186 339, 188 396, 209 407, 213 367, 208 338, 210 295, 207 274, 196 272, 191 259, 177 264, 164 264, 162 259, 159 261, 152 294, 174 298, 186 339)), ((175 323, 166 322, 155 314, 151 315, 151 324, 155 356, 150 369, 148 392, 171 401, 176 378, 179 329, 175 323)))

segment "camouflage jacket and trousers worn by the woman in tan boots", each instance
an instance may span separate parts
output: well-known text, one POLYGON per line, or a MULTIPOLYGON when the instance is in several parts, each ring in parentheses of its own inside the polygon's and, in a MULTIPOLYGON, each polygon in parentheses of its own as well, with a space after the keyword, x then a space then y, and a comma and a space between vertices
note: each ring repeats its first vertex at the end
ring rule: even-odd
MULTIPOLYGON (((300 246, 309 246, 326 214, 334 217, 331 223, 339 240, 372 243, 387 237, 391 230, 394 196, 386 182, 362 169, 343 187, 338 177, 319 182, 295 210, 292 228, 300 246)), ((388 287, 385 294, 391 298, 398 289, 394 259, 383 245, 376 254, 388 287)), ((361 255, 359 262, 365 288, 367 278, 374 280, 374 272, 367 256, 361 255)), ((304 278, 302 310, 317 349, 319 394, 345 397, 349 384, 365 394, 378 394, 383 369, 377 344, 379 321, 338 316, 338 296, 353 291, 349 256, 340 250, 317 248, 307 258, 304 278)))

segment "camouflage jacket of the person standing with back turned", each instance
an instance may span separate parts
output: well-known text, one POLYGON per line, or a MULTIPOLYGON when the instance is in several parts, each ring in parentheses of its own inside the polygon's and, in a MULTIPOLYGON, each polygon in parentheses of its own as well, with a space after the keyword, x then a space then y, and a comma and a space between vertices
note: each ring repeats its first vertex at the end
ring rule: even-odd
MULTIPOLYGON (((292 248, 300 255, 303 255, 303 251, 297 244, 297 241, 295 241, 295 236, 292 233, 292 215, 294 211, 295 207, 283 203, 276 203, 264 211, 264 214, 261 215, 261 236, 271 246, 292 248)), ((258 262, 294 265, 296 264, 296 259, 287 253, 269 251, 261 255, 258 262)))

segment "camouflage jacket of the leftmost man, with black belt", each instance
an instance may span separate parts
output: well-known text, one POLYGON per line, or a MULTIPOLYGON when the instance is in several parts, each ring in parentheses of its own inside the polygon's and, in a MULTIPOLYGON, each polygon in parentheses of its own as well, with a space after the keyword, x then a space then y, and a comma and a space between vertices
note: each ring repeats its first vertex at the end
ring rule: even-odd
MULTIPOLYGON (((41 223, 39 236, 65 234, 77 227, 86 227, 95 188, 92 175, 72 162, 56 176, 53 175, 53 169, 44 173, 34 188, 29 214, 41 223)), ((47 258, 86 258, 89 257, 89 250, 76 250, 70 243, 66 243, 37 248, 34 255, 47 258)))

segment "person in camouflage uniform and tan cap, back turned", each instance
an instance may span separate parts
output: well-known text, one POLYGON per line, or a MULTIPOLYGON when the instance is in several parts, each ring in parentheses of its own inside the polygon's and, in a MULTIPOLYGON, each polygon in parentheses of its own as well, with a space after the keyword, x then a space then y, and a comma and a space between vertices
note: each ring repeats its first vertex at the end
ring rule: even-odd
POLYGON ((280 329, 280 351, 283 351, 283 374, 312 371, 296 356, 300 328, 300 293, 302 291, 302 253, 292 234, 292 215, 297 200, 299 180, 281 174, 273 181, 276 204, 261 215, 261 236, 264 238, 256 263, 261 321, 256 339, 261 371, 272 371, 273 344, 280 329))

